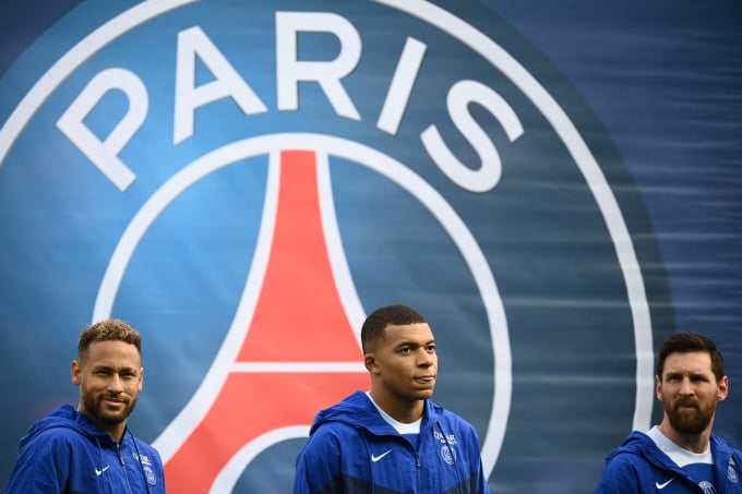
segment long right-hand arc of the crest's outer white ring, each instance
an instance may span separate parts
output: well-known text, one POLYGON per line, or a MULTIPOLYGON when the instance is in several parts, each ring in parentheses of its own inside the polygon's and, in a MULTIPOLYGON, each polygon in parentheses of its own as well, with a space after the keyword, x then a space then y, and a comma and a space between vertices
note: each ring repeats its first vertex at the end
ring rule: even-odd
POLYGON ((407 12, 458 39, 492 65, 500 69, 536 106, 554 132, 560 136, 581 172, 585 177, 598 207, 606 220, 607 228, 615 248, 619 264, 624 276, 626 293, 634 321, 634 345, 636 348, 636 405, 633 429, 645 431, 651 420, 654 403, 654 350, 651 340, 651 318, 646 300, 644 279, 629 229, 621 215, 618 201, 603 176, 595 157, 566 112, 502 47, 484 34, 465 23, 450 12, 426 0, 373 0, 403 12, 407 12))

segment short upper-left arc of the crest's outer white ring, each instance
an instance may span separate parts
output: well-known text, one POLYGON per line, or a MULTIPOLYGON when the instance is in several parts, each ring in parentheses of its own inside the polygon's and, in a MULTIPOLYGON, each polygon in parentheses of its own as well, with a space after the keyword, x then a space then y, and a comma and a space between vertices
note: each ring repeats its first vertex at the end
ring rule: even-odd
POLYGON ((0 167, 23 129, 69 75, 103 47, 137 25, 198 0, 146 0, 85 36, 34 84, 0 128, 0 167))

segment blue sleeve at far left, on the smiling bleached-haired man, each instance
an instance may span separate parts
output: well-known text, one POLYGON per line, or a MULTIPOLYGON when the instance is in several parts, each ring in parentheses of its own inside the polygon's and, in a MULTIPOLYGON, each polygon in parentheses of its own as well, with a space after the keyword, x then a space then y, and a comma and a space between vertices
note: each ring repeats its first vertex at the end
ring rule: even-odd
POLYGON ((13 467, 5 494, 58 494, 70 480, 72 445, 63 434, 47 431, 34 438, 13 467))

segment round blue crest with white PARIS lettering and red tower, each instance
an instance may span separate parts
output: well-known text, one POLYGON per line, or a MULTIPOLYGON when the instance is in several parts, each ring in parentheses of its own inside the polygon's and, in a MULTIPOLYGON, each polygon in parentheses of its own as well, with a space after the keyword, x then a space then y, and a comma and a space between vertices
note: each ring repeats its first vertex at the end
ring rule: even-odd
POLYGON ((83 2, 0 80, 10 348, 133 324, 131 423, 176 493, 289 489, 314 413, 368 388, 360 326, 388 303, 429 318, 434 400, 492 479, 535 442, 564 468, 609 449, 650 420, 654 251, 534 53, 477 2, 83 2))

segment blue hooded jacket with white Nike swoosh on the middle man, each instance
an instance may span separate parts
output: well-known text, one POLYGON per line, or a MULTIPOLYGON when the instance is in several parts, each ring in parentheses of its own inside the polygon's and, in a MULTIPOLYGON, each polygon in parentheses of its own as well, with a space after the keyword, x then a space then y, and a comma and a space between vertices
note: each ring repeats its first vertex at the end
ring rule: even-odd
POLYGON ((479 438, 430 400, 417 447, 356 391, 322 410, 297 458, 294 494, 489 494, 479 438))

